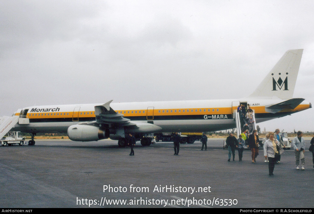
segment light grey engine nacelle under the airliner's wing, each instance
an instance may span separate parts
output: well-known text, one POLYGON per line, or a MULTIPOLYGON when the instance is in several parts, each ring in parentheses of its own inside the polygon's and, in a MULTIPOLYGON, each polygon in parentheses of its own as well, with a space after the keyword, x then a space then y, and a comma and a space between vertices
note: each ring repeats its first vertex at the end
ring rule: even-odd
POLYGON ((109 129, 101 130, 96 126, 72 125, 68 128, 68 136, 73 141, 97 141, 109 138, 109 129))

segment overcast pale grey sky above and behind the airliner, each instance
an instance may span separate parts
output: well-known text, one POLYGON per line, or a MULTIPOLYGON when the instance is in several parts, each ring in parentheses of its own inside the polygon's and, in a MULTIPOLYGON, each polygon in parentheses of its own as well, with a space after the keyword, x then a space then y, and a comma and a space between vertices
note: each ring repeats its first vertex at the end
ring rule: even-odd
MULTIPOLYGON (((0 116, 33 105, 234 99, 290 49, 314 103, 314 1, 0 0, 0 116)), ((314 131, 314 108, 259 123, 314 131)))

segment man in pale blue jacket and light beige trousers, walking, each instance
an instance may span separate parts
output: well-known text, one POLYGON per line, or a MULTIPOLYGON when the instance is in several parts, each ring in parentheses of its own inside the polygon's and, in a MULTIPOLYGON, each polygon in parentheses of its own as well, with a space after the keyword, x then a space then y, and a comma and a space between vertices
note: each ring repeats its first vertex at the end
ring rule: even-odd
POLYGON ((297 170, 300 169, 299 163, 301 159, 301 169, 304 170, 305 141, 304 141, 304 138, 302 138, 303 132, 298 131, 297 135, 298 136, 293 138, 293 141, 292 141, 294 152, 295 152, 295 166, 297 170))

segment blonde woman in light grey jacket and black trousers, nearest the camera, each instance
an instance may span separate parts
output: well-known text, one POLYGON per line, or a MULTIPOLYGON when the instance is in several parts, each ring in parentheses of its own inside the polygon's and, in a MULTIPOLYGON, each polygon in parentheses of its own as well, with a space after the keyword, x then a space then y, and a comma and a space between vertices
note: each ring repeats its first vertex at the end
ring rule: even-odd
POLYGON ((268 172, 269 176, 274 175, 273 171, 275 168, 275 162, 276 162, 276 154, 280 155, 284 153, 284 149, 280 147, 280 143, 277 139, 274 138, 274 133, 269 132, 269 139, 265 141, 263 149, 264 149, 264 157, 268 157, 268 172))

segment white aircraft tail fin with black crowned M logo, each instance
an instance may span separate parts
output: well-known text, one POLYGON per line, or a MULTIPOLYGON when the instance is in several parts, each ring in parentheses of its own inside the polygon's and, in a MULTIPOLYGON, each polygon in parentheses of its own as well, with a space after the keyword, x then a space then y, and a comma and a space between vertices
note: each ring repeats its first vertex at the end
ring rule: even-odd
POLYGON ((249 96, 262 99, 292 99, 303 49, 288 50, 249 96))

